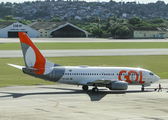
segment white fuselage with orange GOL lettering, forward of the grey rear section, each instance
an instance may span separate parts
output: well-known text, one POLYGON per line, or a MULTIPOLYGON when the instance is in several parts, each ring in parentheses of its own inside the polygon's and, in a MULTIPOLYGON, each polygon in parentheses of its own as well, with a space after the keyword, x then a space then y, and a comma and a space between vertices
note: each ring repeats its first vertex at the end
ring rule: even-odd
POLYGON ((150 85, 158 81, 159 77, 151 71, 129 67, 65 67, 65 73, 58 81, 68 84, 85 84, 91 80, 120 80, 130 85, 150 85))

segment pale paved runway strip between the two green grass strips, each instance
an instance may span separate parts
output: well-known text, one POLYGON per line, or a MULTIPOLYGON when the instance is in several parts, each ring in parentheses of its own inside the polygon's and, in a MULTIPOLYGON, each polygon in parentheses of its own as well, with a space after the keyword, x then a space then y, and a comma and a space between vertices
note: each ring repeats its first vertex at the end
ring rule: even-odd
MULTIPOLYGON (((168 55, 168 49, 41 50, 45 57, 168 55)), ((0 58, 23 57, 21 50, 0 50, 0 58)))

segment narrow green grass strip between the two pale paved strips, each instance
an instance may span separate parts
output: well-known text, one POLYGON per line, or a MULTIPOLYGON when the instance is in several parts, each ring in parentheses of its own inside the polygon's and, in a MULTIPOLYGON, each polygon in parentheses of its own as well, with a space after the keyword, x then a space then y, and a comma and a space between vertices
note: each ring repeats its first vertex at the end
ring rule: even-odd
MULTIPOLYGON (((40 50, 168 48, 168 42, 145 43, 35 43, 40 50)), ((0 44, 0 50, 21 50, 20 43, 0 44)))

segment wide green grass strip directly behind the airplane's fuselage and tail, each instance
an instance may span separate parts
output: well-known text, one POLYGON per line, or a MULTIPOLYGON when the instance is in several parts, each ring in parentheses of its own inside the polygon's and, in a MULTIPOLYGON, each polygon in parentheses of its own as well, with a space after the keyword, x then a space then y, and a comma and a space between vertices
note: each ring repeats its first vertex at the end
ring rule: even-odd
MULTIPOLYGON (((106 57, 57 57, 47 58, 49 61, 64 66, 111 66, 111 67, 141 67, 151 70, 161 79, 168 78, 168 56, 106 56, 106 57)), ((31 77, 21 70, 8 66, 6 63, 24 65, 23 58, 0 59, 0 86, 55 84, 31 77)))

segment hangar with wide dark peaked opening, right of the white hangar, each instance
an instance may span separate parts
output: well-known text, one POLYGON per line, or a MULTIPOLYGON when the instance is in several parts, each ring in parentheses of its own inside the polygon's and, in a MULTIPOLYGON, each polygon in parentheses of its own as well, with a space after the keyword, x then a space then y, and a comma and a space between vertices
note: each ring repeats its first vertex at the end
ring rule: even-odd
POLYGON ((44 37, 88 37, 88 32, 68 22, 34 22, 28 25, 44 37))

